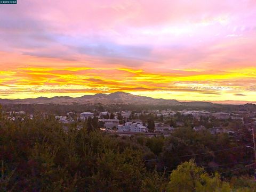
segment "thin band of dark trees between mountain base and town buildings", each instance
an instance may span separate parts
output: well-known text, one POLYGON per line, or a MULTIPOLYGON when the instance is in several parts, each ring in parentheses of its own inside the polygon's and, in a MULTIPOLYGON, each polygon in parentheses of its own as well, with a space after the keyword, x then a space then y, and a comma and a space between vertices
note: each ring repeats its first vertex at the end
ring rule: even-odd
POLYGON ((206 110, 206 111, 256 111, 255 104, 246 104, 246 105, 219 105, 214 104, 211 106, 187 106, 187 105, 146 105, 146 104, 70 104, 70 105, 58 105, 58 104, 13 104, 13 105, 4 105, 4 111, 26 111, 28 113, 55 113, 55 114, 66 114, 66 112, 75 112, 82 113, 85 111, 97 110, 99 112, 109 111, 134 111, 135 113, 141 113, 142 111, 147 110, 172 110, 172 111, 182 111, 182 110, 206 110))

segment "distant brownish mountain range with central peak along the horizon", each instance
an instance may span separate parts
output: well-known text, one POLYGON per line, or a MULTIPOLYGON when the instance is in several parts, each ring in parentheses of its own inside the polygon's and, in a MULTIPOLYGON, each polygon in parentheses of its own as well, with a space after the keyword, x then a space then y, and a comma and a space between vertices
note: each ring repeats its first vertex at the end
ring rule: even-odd
MULTIPOLYGON (((169 105, 169 106, 185 106, 185 107, 221 107, 224 105, 214 104, 211 102, 179 102, 175 99, 156 99, 145 96, 138 96, 124 92, 115 92, 111 94, 95 94, 84 95, 82 97, 38 97, 27 99, 0 99, 0 103, 3 105, 10 104, 59 104, 59 105, 71 105, 71 104, 133 104, 133 105, 169 105)), ((231 106, 231 105, 225 105, 231 106)), ((234 106, 234 105, 233 105, 234 106)), ((254 104, 237 105, 241 110, 246 108, 256 109, 254 104)))

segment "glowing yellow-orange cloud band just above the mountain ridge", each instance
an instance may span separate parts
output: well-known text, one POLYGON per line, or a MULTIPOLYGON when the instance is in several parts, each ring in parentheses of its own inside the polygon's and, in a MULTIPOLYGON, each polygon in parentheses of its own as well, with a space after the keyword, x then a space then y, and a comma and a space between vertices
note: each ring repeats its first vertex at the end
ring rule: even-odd
MULTIPOLYGON (((148 89, 151 90, 148 96, 153 97, 156 97, 156 93, 169 91, 183 94, 183 96, 178 94, 175 96, 184 99, 187 99, 188 96, 191 98, 198 96, 197 99, 199 96, 208 99, 216 99, 215 97, 224 99, 236 91, 242 91, 247 95, 255 93, 255 90, 248 90, 247 85, 239 83, 240 80, 255 82, 254 68, 215 72, 215 74, 209 74, 210 72, 207 71, 189 74, 189 70, 184 71, 186 72, 181 70, 175 72, 174 70, 174 74, 149 73, 125 68, 19 68, 13 72, 0 71, 1 84, 11 86, 11 88, 1 88, 0 95, 2 93, 6 98, 15 98, 17 95, 14 93, 17 91, 19 92, 18 96, 23 95, 23 97, 26 95, 29 97, 38 91, 44 95, 58 95, 63 91, 66 91, 65 93, 68 95, 76 93, 83 95, 83 90, 86 90, 86 93, 90 91, 92 93, 113 92, 115 90, 139 93, 139 91, 145 90, 142 93, 147 93, 148 89), (67 71, 67 73, 62 71, 67 71), (236 85, 227 85, 228 81, 235 81, 236 85)), ((170 97, 169 93, 163 95, 170 97)), ((249 99, 251 96, 245 98, 249 99)))

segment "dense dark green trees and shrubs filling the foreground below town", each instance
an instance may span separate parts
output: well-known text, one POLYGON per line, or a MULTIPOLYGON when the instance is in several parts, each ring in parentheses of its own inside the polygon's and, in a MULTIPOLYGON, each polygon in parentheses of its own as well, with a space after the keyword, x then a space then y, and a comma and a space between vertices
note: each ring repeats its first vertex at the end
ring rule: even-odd
POLYGON ((0 191, 255 191, 241 163, 253 154, 227 135, 181 128, 167 138, 119 137, 93 119, 63 129, 52 115, 0 114, 0 191))

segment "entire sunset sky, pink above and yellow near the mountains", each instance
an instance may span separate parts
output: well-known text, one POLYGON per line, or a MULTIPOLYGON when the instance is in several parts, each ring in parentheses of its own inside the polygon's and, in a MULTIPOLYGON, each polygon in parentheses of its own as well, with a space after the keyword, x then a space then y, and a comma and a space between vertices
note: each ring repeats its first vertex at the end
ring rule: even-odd
POLYGON ((0 5, 0 98, 256 101, 256 1, 0 5))

